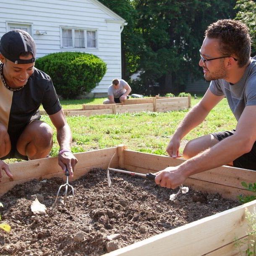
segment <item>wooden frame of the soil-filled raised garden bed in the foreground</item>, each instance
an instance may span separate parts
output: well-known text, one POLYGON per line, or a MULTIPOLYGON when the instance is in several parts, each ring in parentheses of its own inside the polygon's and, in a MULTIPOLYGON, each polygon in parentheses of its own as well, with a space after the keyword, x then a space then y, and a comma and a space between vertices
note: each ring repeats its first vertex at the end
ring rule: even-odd
MULTIPOLYGON (((75 154, 78 159, 74 179, 86 174, 92 168, 107 168, 111 157, 113 168, 125 168, 134 172, 149 173, 162 170, 167 166, 176 166, 183 159, 135 152, 126 146, 94 150, 75 154)), ((14 180, 3 175, 0 184, 0 196, 13 188, 14 185, 33 179, 64 178, 57 157, 19 162, 9 165, 14 180)), ((256 180, 256 172, 235 167, 222 166, 202 172, 188 178, 184 185, 194 190, 219 193, 224 198, 236 199, 238 195, 248 195, 243 189, 242 181, 251 183, 256 180)), ((172 193, 170 191, 170 193, 172 193)), ((1 201, 1 199, 0 199, 1 201)), ((253 212, 256 200, 238 207, 199 219, 187 225, 154 235, 138 243, 120 248, 106 256, 167 256, 167 255, 235 255, 238 252, 234 239, 246 238, 247 223, 245 209, 253 212)))

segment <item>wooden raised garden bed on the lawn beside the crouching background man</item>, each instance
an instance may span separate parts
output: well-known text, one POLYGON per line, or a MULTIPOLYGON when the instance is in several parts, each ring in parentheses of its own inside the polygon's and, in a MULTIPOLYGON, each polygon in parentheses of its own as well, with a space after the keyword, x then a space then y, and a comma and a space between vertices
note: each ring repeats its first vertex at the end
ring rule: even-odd
MULTIPOLYGON (((152 97, 142 99, 127 99, 123 104, 83 104, 82 109, 65 109, 64 114, 69 115, 101 115, 118 114, 124 112, 166 112, 171 110, 185 110, 191 107, 191 97, 152 97)), ((45 115, 44 110, 40 110, 45 115)))

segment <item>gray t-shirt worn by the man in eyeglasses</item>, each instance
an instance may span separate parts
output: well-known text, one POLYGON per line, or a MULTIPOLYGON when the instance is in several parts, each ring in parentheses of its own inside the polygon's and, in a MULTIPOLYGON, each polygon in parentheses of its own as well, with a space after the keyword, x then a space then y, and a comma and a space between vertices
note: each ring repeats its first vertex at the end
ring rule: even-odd
POLYGON ((217 79, 211 81, 209 88, 217 96, 225 95, 236 120, 239 120, 246 106, 256 105, 256 56, 236 84, 217 79))

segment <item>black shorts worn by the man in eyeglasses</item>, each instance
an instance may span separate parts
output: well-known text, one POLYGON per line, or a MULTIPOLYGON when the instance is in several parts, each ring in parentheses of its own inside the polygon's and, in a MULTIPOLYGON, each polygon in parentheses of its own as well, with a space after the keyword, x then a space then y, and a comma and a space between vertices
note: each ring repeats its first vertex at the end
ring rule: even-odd
MULTIPOLYGON (((218 141, 223 140, 229 136, 235 134, 235 129, 232 131, 222 131, 218 133, 211 133, 218 141)), ((243 154, 233 161, 234 167, 256 170, 256 142, 254 142, 253 147, 250 152, 243 154)))

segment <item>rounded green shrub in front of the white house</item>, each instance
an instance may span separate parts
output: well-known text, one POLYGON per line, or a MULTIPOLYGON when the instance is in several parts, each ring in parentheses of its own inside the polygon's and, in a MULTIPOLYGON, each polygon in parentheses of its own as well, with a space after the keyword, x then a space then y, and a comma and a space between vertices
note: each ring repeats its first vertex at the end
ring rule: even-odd
POLYGON ((99 57, 81 52, 57 52, 37 59, 36 68, 47 73, 64 99, 90 92, 101 81, 107 65, 99 57))

